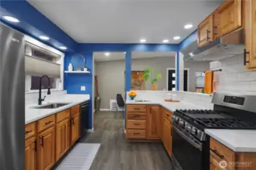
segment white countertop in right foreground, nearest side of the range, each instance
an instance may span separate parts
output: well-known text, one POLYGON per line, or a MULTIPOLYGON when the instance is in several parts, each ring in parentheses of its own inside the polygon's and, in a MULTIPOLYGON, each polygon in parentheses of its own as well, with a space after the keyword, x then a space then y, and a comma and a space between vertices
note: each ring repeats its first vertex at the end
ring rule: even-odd
POLYGON ((204 131, 235 152, 256 152, 255 130, 205 129, 204 131))

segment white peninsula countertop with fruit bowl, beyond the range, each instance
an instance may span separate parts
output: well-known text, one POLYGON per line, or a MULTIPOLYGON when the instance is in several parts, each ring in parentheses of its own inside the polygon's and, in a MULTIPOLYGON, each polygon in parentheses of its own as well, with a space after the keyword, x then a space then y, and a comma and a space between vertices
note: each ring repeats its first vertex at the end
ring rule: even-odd
MULTIPOLYGON (((147 100, 147 99, 146 99, 147 100)), ((202 110, 203 107, 191 104, 185 101, 181 102, 166 102, 163 99, 161 100, 150 100, 149 102, 135 102, 134 100, 126 100, 126 104, 159 104, 162 107, 165 107, 166 110, 175 112, 175 110, 202 110)))

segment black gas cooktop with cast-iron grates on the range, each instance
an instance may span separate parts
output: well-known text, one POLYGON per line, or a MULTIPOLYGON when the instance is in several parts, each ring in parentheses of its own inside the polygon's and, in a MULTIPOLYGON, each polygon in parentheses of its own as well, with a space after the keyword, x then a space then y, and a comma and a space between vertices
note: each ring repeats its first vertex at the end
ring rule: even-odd
POLYGON ((214 110, 177 110, 182 119, 201 128, 256 129, 256 125, 214 110))

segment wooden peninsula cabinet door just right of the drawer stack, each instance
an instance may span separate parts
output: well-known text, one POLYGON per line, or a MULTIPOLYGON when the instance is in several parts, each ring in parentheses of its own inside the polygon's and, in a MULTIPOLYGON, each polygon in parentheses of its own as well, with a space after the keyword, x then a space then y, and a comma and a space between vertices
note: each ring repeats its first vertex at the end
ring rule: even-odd
POLYGON ((147 138, 160 139, 160 107, 147 107, 147 138))

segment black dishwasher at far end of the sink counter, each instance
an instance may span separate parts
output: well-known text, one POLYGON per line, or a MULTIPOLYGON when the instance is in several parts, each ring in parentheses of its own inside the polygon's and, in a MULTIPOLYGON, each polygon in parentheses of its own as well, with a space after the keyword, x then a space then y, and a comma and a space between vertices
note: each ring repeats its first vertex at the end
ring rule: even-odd
POLYGON ((80 118, 80 136, 83 138, 87 134, 89 117, 89 100, 81 104, 81 118, 80 118))

